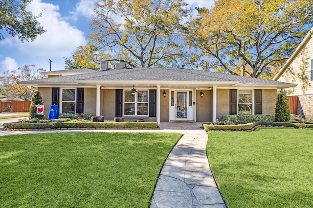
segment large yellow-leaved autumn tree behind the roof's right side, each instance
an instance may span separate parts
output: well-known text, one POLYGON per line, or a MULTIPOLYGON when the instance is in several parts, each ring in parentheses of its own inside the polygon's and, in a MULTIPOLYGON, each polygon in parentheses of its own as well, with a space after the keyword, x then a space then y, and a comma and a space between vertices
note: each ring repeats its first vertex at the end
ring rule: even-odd
POLYGON ((198 11, 189 39, 206 69, 241 76, 279 68, 313 24, 312 0, 218 0, 198 11))

